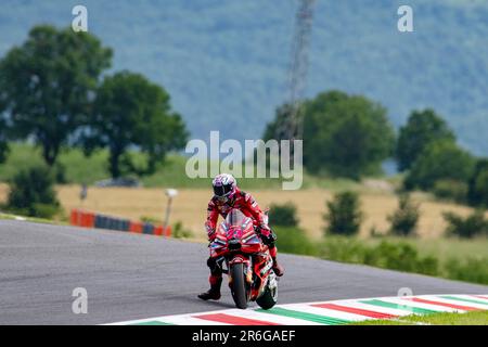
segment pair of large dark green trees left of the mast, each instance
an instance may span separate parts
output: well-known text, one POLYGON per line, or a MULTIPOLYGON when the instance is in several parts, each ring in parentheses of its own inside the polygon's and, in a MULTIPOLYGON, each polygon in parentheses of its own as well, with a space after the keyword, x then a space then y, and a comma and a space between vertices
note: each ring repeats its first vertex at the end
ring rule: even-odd
POLYGON ((0 61, 0 159, 9 140, 33 141, 49 167, 64 146, 87 155, 107 149, 117 178, 151 174, 168 151, 183 147, 188 131, 168 93, 140 74, 107 75, 112 56, 91 34, 34 27, 0 61), (145 163, 134 163, 129 149, 145 163))

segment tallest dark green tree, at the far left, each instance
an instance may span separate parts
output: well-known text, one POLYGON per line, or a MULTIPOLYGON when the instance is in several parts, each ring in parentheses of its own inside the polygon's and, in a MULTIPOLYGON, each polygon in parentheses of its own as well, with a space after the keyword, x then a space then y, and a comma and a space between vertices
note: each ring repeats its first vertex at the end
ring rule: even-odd
POLYGON ((52 166, 62 145, 82 124, 112 51, 88 33, 34 27, 0 62, 0 104, 14 138, 30 137, 52 166))

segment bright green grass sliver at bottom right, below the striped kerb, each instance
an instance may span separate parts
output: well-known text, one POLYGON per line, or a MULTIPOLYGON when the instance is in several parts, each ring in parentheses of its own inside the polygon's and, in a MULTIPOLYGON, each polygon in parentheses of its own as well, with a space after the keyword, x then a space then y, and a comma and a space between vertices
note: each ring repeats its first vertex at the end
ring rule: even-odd
POLYGON ((396 320, 368 320, 350 325, 488 325, 488 311, 466 313, 411 314, 396 320))

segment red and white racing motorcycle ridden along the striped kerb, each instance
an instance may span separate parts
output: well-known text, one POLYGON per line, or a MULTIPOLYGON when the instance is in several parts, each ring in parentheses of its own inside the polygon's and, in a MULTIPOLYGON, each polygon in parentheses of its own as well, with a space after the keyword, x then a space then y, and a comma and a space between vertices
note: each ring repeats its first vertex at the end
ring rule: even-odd
POLYGON ((256 301, 264 309, 277 304, 278 278, 272 270, 273 259, 252 218, 231 209, 210 243, 210 256, 228 274, 237 308, 245 309, 249 301, 256 301))

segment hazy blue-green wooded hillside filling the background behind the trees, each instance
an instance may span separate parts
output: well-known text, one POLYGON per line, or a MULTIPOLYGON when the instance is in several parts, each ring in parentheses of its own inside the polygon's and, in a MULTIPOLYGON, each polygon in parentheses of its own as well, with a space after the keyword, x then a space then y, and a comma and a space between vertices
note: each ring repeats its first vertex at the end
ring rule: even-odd
MULTIPOLYGON (((73 0, 3 0, 0 54, 39 23, 70 25, 73 0)), ((256 138, 285 98, 293 0, 84 0, 89 29, 115 49, 114 69, 164 85, 195 138, 256 138)), ((342 89, 387 106, 395 125, 433 106, 461 143, 488 155, 488 3, 319 0, 307 94, 342 89), (413 34, 397 8, 414 9, 413 34)))

